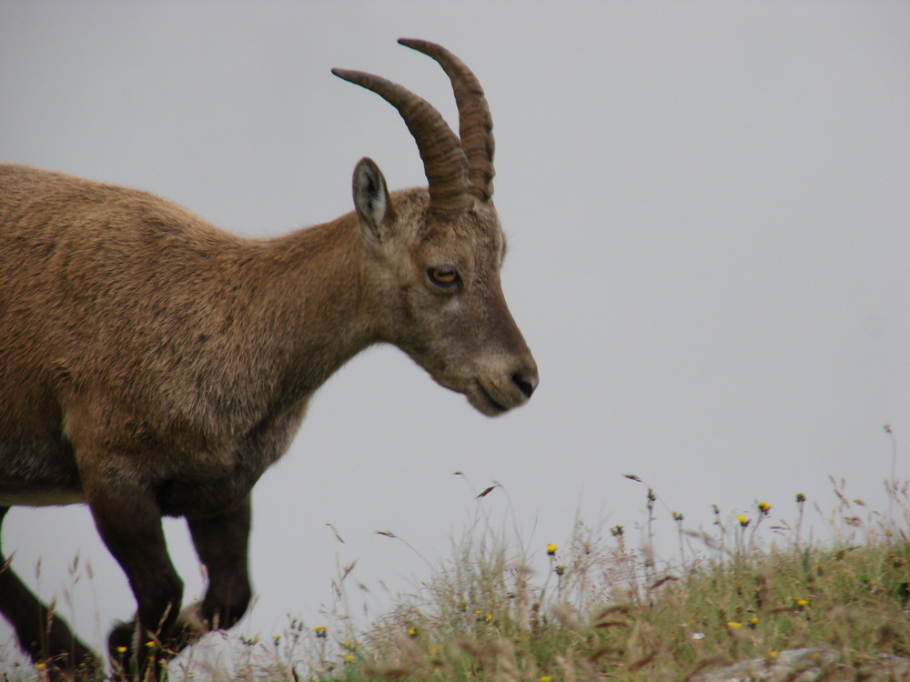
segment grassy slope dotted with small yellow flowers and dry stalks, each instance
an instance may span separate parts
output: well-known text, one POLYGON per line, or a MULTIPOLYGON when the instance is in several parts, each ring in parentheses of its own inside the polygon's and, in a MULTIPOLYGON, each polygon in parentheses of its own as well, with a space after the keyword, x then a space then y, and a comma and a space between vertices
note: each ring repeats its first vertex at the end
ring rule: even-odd
MULTIPOLYGON (((222 667, 187 666, 190 650, 170 677, 679 680, 815 646, 836 652, 835 667, 866 674, 881 654, 910 657, 910 496, 906 485, 893 485, 884 515, 849 500, 843 484, 834 482, 834 492, 834 539, 824 545, 802 537, 803 496, 792 523, 773 525, 762 504, 729 518, 715 508, 708 533, 686 533, 682 515, 666 509, 679 548, 662 566, 652 547, 628 547, 622 527, 601 531, 579 521, 564 546, 530 549, 517 532, 494 530, 481 516, 414 594, 367 627, 355 631, 341 614, 327 627, 295 620, 278 637, 231 636, 222 667)), ((659 503, 648 488, 646 537, 659 503)), ((342 568, 336 581, 341 604, 352 569, 342 568)))

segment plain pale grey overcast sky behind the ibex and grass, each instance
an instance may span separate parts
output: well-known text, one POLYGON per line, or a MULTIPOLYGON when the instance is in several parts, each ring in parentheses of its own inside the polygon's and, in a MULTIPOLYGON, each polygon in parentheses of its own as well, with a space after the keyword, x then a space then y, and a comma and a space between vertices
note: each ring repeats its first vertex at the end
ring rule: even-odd
MULTIPOLYGON (((637 542, 644 489, 627 473, 690 527, 758 500, 792 521, 797 492, 830 511, 829 475, 884 510, 885 424, 910 474, 908 35, 905 2, 0 0, 0 159, 278 235, 351 210, 361 156, 392 187, 425 184, 399 115, 332 66, 450 121, 448 79, 396 39, 446 45, 479 75, 504 288, 541 386, 491 420, 394 348, 332 378, 255 490, 260 597, 238 631, 269 636, 288 614, 320 624, 337 563, 358 560, 375 609, 379 581, 427 577, 377 530, 431 563, 479 506, 539 555, 576 515, 637 542), (494 480, 508 497, 475 501, 494 480)), ((656 528, 673 537, 666 514, 656 528)), ((167 530, 196 597, 184 525, 167 530)), ((3 541, 89 641, 131 616, 85 507, 17 508, 3 541)), ((0 623, 0 657, 10 641, 0 623)))

